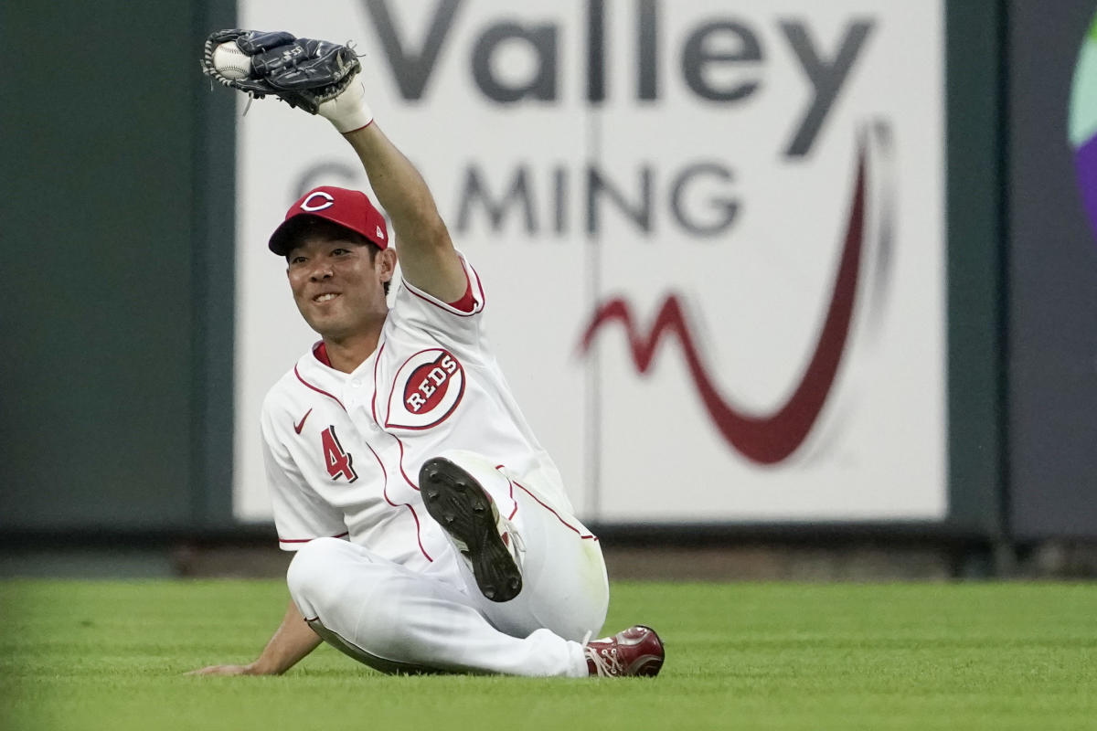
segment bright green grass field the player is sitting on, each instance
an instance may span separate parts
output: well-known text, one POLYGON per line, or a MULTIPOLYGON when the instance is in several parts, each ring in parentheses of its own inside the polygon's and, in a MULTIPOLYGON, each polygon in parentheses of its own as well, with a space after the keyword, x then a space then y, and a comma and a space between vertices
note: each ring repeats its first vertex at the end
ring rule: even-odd
POLYGON ((618 583, 657 678, 389 677, 250 660, 281 582, 0 582, 2 729, 1097 729, 1097 584, 618 583))

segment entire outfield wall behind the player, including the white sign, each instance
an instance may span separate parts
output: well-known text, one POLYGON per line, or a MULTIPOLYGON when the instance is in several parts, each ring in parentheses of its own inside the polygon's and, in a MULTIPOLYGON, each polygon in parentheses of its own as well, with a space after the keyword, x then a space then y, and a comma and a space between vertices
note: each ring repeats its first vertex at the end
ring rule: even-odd
MULTIPOLYGON (((262 242, 301 190, 365 180, 321 121, 208 89, 200 39, 236 18, 367 52, 589 521, 1094 537, 1064 106, 1097 3, 822 4, 210 1, 152 48, 159 15, 59 3, 132 92, 47 59, 5 108, 4 240, 33 255, 0 529, 269 519, 258 403, 312 334, 262 242)), ((30 53, 37 26, 0 32, 30 53)))

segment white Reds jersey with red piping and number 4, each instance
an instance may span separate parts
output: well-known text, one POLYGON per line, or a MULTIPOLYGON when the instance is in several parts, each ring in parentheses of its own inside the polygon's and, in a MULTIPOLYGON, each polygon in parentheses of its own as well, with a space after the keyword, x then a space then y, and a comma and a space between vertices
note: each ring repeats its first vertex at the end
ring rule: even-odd
POLYGON ((376 350, 353 373, 325 365, 317 343, 267 395, 263 450, 282 548, 347 537, 429 572, 452 547, 422 506, 418 473, 446 449, 483 455, 535 486, 546 506, 573 512, 491 354, 483 287, 462 262, 471 311, 403 282, 376 350))

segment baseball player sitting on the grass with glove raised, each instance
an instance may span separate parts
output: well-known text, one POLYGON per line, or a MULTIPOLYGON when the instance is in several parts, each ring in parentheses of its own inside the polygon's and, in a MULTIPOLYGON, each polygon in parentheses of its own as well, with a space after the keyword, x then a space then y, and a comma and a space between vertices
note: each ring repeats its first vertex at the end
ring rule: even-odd
POLYGON ((320 335, 262 409, 279 540, 296 551, 292 601, 257 660, 195 672, 280 674, 324 640, 395 673, 658 673, 648 627, 589 639, 609 602, 598 539, 491 354, 484 285, 373 122, 358 58, 287 33, 222 31, 204 67, 329 119, 392 231, 365 194, 324 186, 270 238, 320 335), (389 309, 393 239, 402 281, 389 309))

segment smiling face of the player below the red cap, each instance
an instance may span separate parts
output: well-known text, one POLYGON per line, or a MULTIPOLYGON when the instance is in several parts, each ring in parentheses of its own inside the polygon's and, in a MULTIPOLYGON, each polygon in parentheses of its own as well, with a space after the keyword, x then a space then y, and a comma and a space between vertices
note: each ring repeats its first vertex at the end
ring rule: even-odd
POLYGON ((290 288, 302 317, 326 339, 367 333, 384 319, 384 283, 396 254, 339 238, 309 237, 286 255, 290 288), (374 253, 376 252, 376 253, 374 253))

